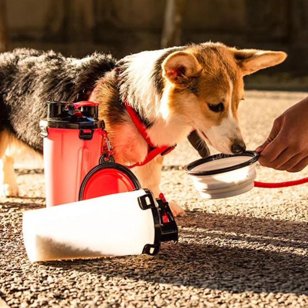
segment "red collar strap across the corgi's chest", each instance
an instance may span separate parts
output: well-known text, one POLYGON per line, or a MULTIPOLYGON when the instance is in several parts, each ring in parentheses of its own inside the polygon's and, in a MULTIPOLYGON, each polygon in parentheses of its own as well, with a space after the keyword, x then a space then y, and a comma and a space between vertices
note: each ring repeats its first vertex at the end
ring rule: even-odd
POLYGON ((136 112, 135 109, 132 108, 131 105, 128 104, 128 102, 125 100, 125 108, 129 114, 129 116, 131 117, 133 123, 135 124, 136 128, 138 129, 138 131, 140 132, 141 136, 143 137, 143 139, 147 142, 148 144, 148 154, 145 157, 144 161, 133 164, 131 166, 126 166, 127 168, 133 168, 133 167, 137 167, 137 166, 143 166, 145 164, 147 164, 149 161, 151 161, 152 159, 154 159, 157 155, 166 155, 168 153, 170 153, 175 147, 176 145, 163 145, 160 147, 156 147, 152 141, 150 140, 148 134, 147 134, 147 128, 145 127, 143 121, 140 118, 140 115, 136 112))

